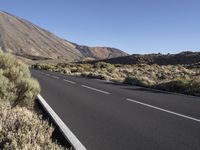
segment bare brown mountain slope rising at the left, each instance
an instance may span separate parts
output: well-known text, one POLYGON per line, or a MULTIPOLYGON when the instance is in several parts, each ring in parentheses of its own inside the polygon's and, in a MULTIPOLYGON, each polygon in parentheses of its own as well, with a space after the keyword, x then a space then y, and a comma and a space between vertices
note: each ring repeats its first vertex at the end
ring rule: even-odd
POLYGON ((0 12, 0 48, 31 60, 78 61, 128 55, 115 48, 88 47, 72 43, 7 12, 0 12))

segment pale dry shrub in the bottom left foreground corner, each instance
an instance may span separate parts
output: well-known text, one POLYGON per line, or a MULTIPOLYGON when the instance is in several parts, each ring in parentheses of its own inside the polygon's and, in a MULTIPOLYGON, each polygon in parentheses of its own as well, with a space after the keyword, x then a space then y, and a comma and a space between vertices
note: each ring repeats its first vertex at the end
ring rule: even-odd
POLYGON ((25 107, 0 103, 0 149, 64 149, 51 139, 54 128, 25 107))

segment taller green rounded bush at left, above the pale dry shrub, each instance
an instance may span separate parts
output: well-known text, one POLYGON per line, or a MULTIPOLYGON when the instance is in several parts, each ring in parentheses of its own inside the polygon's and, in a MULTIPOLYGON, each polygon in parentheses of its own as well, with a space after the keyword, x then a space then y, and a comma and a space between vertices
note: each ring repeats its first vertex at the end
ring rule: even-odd
POLYGON ((28 66, 0 52, 0 99, 12 106, 32 108, 39 92, 39 83, 31 78, 28 66))

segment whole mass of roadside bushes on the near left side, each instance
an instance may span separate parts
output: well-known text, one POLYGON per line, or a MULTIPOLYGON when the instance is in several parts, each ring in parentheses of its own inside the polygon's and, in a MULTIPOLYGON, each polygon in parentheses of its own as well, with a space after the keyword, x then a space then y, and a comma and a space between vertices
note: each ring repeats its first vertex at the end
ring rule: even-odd
POLYGON ((39 92, 28 66, 0 51, 0 149, 64 149, 34 109, 39 92))

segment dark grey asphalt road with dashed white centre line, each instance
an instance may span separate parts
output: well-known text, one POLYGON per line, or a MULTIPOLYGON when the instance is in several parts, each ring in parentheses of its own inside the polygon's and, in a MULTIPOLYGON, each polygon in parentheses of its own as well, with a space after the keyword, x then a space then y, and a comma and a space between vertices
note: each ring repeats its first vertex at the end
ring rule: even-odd
POLYGON ((88 150, 200 150, 200 98, 32 70, 88 150))

